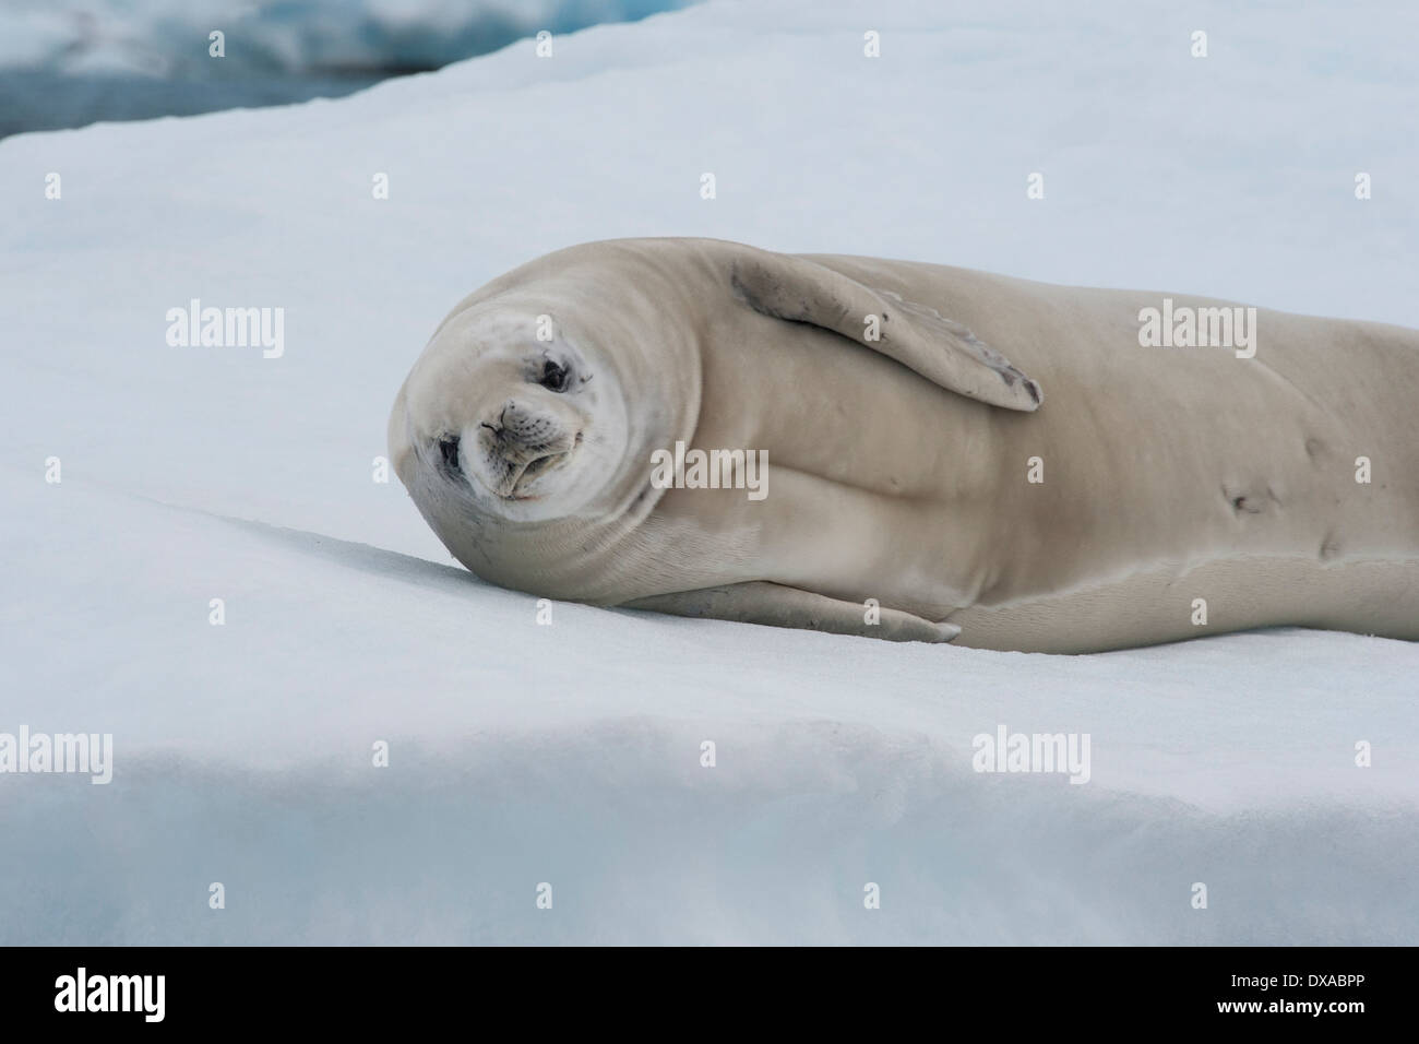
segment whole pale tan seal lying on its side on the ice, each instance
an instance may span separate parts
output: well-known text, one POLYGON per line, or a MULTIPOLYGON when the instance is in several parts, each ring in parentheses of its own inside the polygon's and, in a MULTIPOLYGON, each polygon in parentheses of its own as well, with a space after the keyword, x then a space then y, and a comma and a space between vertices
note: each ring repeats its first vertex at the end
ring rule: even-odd
POLYGON ((392 459, 460 561, 538 595, 1019 651, 1419 639, 1419 334, 1256 310, 1247 351, 1145 347, 1165 301, 1235 308, 585 244, 455 308, 396 401, 392 459), (549 355, 590 379, 543 384, 549 355), (661 487, 677 442, 766 453, 762 499, 661 487))

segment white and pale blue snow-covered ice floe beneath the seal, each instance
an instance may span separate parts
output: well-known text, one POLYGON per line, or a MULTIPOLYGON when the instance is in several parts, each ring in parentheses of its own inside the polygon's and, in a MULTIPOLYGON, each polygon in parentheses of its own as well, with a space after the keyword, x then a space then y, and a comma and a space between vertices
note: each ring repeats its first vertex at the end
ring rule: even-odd
POLYGON ((444 312, 592 239, 1419 325, 1416 30, 1402 3, 711 3, 0 142, 0 732, 111 732, 116 763, 0 776, 0 943, 1419 942, 1419 646, 539 626, 372 480, 444 312), (169 347, 194 297, 284 307, 285 354, 169 347), (1088 733, 1091 780, 973 773, 1000 723, 1088 733))

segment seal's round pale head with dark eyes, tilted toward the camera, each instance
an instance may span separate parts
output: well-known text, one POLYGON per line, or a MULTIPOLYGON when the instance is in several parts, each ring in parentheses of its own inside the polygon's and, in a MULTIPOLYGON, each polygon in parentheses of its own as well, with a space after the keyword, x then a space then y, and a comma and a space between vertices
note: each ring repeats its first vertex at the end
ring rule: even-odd
POLYGON ((394 470, 484 580, 583 601, 617 589, 597 562, 653 510, 650 455, 690 437, 700 409, 692 335, 663 277, 636 267, 627 284, 561 251, 494 280, 443 321, 394 401, 394 470))

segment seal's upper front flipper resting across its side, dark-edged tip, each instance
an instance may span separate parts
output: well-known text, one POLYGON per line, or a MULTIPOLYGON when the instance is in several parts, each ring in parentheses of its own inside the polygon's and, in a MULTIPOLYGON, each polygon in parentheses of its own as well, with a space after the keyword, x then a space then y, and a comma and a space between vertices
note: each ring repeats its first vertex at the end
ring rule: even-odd
POLYGON ((955 320, 816 261, 735 246, 729 286, 755 311, 841 334, 958 395, 1027 413, 1043 401, 1037 382, 955 320))

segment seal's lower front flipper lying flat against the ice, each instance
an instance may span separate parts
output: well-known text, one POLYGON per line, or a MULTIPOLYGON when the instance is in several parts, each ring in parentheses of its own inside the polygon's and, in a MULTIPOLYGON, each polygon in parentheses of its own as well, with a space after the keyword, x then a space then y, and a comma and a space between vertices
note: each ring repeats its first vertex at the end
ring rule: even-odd
POLYGON ((883 638, 888 642, 949 642, 961 634, 961 628, 955 624, 932 624, 910 612, 888 608, 876 609, 878 622, 868 624, 864 619, 868 611, 860 602, 843 602, 761 580, 637 598, 622 602, 617 608, 883 638))

